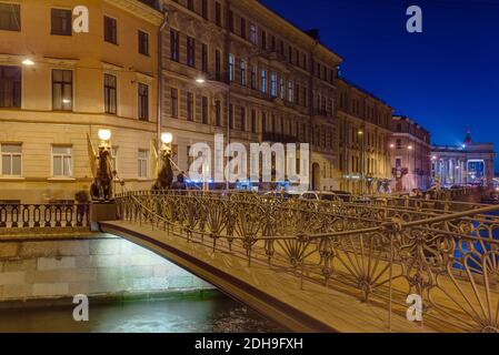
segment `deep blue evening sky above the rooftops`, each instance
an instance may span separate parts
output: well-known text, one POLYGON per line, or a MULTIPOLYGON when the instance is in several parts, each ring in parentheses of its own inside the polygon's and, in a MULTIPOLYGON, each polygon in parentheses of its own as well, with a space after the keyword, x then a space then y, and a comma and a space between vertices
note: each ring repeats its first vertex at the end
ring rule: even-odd
MULTIPOLYGON (((262 0, 343 58, 342 77, 432 133, 499 148, 499 0, 262 0), (423 33, 406 31, 421 7, 423 33)), ((499 170, 499 162, 497 164, 499 170)))

